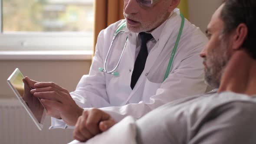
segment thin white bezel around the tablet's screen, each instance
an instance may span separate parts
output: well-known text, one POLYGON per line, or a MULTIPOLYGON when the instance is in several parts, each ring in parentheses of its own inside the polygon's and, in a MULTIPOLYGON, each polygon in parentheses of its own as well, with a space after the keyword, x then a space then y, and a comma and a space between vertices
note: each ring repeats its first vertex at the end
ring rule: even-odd
MULTIPOLYGON (((17 75, 22 73, 20 72, 20 70, 18 68, 16 68, 13 73, 10 75, 10 77, 7 79, 7 83, 10 85, 10 87, 12 88, 13 92, 15 93, 16 97, 18 98, 18 100, 21 102, 21 104, 23 105, 23 107, 26 109, 26 111, 28 112, 28 114, 30 115, 30 118, 32 118, 32 120, 34 121, 34 123, 36 124, 37 128, 42 131, 43 129, 43 124, 44 124, 44 120, 46 117, 46 108, 44 108, 43 110, 43 115, 41 118, 41 121, 39 123, 39 121, 37 121, 35 115, 32 113, 32 111, 30 110, 30 108, 26 105, 26 102, 23 100, 22 96, 20 95, 20 93, 16 90, 16 88, 13 86, 12 82, 14 79, 16 79, 17 75)), ((23 75, 22 75, 23 76, 23 75)), ((23 76, 24 78, 24 76, 23 76)), ((39 100, 40 101, 40 100, 39 100)), ((41 101, 40 101, 41 103, 41 101)), ((41 103, 42 104, 42 103, 41 103)), ((42 104, 43 105, 43 104, 42 104)))

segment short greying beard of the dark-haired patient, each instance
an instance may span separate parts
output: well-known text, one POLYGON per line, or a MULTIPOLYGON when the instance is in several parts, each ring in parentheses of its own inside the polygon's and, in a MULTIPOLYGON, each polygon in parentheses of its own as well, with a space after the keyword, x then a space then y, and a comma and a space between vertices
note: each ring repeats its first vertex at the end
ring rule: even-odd
POLYGON ((210 59, 212 59, 212 65, 208 65, 205 70, 204 80, 205 82, 213 88, 220 87, 221 77, 226 68, 226 65, 230 59, 228 55, 228 43, 224 42, 222 39, 220 42, 220 51, 221 53, 214 53, 217 56, 211 55, 210 59))

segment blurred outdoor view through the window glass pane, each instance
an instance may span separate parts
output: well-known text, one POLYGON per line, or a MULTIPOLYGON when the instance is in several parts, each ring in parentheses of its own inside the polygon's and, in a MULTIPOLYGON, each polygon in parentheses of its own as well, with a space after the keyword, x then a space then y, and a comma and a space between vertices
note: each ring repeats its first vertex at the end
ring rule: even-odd
POLYGON ((92 33, 93 16, 93 0, 3 0, 3 33, 92 33))

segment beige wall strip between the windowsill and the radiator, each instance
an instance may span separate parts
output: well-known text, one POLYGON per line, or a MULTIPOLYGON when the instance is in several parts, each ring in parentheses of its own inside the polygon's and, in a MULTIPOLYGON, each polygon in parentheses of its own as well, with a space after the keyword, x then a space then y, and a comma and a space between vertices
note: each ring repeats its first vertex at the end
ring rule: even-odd
POLYGON ((15 60, 0 61, 0 98, 14 98, 15 95, 7 84, 7 78, 14 69, 19 68, 24 76, 40 82, 56 82, 70 92, 84 74, 89 73, 91 61, 82 60, 15 60))

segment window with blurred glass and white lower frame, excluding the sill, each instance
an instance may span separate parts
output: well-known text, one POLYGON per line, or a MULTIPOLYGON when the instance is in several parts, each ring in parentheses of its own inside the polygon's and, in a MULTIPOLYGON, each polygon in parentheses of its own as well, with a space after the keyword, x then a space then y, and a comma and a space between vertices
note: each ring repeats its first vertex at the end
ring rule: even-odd
POLYGON ((92 50, 93 0, 1 0, 1 51, 92 50))

